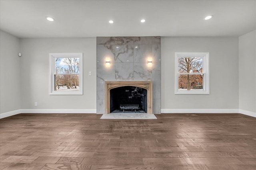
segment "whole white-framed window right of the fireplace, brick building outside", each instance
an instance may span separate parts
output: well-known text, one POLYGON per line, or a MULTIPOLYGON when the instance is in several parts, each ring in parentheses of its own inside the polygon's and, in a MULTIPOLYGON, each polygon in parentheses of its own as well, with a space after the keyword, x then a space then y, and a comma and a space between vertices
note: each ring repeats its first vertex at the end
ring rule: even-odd
POLYGON ((210 94, 209 53, 175 53, 175 94, 210 94))

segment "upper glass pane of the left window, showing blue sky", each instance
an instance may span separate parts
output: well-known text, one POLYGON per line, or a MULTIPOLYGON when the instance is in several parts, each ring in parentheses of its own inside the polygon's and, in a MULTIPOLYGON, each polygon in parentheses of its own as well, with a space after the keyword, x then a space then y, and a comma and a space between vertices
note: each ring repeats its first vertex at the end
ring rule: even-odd
POLYGON ((55 58, 55 73, 79 73, 79 58, 55 58))

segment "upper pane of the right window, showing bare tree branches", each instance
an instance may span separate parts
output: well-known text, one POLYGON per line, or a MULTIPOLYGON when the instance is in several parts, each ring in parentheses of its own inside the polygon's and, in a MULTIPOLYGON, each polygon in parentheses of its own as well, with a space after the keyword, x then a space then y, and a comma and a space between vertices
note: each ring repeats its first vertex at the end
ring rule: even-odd
POLYGON ((178 72, 198 73, 203 72, 202 57, 179 57, 178 72))

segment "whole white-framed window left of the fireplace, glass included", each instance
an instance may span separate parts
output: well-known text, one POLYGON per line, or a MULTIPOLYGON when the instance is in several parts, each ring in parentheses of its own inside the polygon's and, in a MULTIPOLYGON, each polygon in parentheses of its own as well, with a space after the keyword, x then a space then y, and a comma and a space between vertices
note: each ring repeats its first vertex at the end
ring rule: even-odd
POLYGON ((82 53, 50 53, 50 95, 83 94, 82 53))

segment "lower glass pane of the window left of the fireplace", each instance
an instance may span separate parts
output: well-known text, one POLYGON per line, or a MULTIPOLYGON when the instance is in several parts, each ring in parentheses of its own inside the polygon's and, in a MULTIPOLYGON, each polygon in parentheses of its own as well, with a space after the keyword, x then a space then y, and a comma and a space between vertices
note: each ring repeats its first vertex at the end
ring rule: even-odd
POLYGON ((54 75, 54 91, 79 90, 79 75, 54 75))

